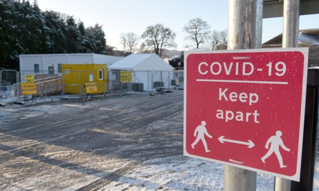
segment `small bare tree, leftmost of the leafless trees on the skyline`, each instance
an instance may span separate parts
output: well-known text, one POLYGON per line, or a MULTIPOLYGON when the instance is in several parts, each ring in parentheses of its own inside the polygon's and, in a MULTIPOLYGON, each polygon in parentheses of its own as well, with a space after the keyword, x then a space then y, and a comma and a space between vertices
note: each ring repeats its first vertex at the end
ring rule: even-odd
POLYGON ((136 51, 136 46, 138 43, 138 36, 133 32, 121 33, 120 43, 123 46, 123 51, 125 55, 129 55, 136 51))

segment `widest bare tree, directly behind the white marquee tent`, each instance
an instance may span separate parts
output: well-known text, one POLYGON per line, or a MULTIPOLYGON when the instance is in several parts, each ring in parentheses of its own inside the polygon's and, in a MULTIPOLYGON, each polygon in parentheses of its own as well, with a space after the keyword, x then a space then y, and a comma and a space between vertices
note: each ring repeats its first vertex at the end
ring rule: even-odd
POLYGON ((162 56, 164 48, 176 47, 175 32, 165 28, 162 24, 151 25, 141 35, 146 46, 154 48, 155 54, 162 56))

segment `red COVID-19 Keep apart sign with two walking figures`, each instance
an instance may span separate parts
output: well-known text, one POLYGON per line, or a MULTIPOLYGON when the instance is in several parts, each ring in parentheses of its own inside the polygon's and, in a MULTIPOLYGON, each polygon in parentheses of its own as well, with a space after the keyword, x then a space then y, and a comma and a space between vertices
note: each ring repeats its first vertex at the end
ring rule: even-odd
POLYGON ((299 181, 308 48, 185 53, 184 155, 299 181))

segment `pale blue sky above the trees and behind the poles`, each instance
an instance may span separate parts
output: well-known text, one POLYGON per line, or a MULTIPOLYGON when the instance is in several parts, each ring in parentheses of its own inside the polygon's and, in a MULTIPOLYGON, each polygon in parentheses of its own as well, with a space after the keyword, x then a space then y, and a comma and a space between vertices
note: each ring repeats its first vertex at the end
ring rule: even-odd
MULTIPOLYGON (((32 1, 31 1, 32 2, 32 1)), ((184 25, 200 17, 212 30, 227 29, 227 0, 38 0, 41 10, 54 10, 73 15, 84 25, 103 25, 107 44, 121 50, 121 32, 141 35, 146 27, 162 23, 176 33, 175 49, 182 50, 184 25)), ((319 14, 300 16, 300 29, 319 28, 319 14)), ((282 18, 263 19, 262 42, 282 32, 282 18)))

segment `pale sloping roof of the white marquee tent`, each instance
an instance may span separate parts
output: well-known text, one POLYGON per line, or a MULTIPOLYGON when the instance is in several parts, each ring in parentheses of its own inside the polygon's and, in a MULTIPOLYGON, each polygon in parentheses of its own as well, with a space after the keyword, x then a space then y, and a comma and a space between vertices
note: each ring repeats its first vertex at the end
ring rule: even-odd
POLYGON ((160 56, 152 54, 130 54, 109 67, 111 70, 173 70, 160 56))

